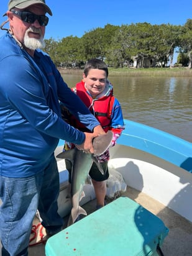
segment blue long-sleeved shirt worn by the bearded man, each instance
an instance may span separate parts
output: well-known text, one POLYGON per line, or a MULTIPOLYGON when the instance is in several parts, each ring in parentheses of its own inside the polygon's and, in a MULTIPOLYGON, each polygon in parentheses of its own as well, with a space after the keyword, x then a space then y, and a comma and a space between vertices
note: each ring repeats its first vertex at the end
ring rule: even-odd
POLYGON ((63 121, 59 101, 89 130, 99 125, 71 92, 50 57, 0 39, 0 175, 27 177, 45 168, 58 140, 82 144, 85 134, 63 121))

